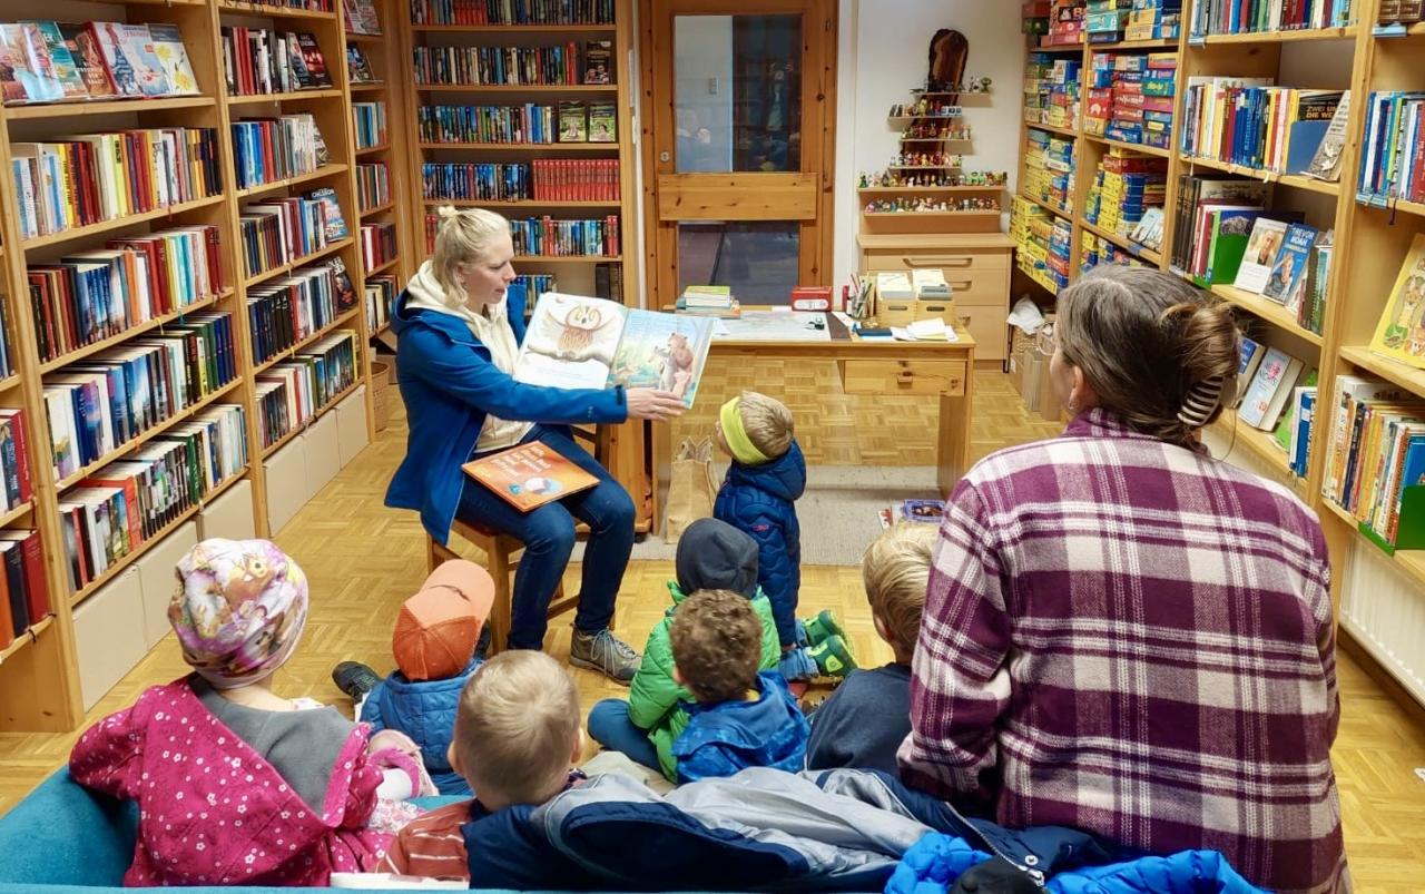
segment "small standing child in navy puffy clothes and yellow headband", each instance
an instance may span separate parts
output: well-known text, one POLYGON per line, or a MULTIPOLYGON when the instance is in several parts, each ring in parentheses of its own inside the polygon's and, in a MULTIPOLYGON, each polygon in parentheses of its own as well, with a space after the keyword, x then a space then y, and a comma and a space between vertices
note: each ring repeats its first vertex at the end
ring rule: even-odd
MULTIPOLYGON (((782 650, 812 644, 797 620, 801 589, 801 526, 795 502, 807 489, 807 461, 792 433, 792 413, 781 401, 744 391, 718 411, 717 443, 732 462, 712 503, 712 518, 757 542, 757 583, 772 606, 782 650)), ((839 636, 818 660, 822 673, 855 669, 839 636)))

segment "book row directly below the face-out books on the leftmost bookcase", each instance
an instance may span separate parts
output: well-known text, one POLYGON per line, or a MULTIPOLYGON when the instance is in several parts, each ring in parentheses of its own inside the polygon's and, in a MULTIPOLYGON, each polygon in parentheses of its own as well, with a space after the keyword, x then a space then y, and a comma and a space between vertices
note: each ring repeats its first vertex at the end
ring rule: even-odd
POLYGON ((125 130, 11 143, 26 238, 157 211, 222 191, 218 131, 125 130))

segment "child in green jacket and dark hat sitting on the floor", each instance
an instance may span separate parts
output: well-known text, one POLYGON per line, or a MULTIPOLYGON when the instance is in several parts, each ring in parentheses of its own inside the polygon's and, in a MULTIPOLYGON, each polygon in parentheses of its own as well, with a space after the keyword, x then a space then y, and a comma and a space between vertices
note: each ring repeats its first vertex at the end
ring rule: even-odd
POLYGON ((678 605, 697 590, 732 590, 747 596, 762 625, 762 660, 758 670, 778 670, 787 680, 808 680, 836 667, 836 676, 855 669, 849 643, 829 610, 799 622, 811 646, 782 652, 772 606, 757 586, 757 542, 717 519, 698 519, 678 538, 674 559, 677 580, 668 582, 673 605, 648 634, 643 666, 633 679, 628 700, 606 699, 589 713, 589 736, 660 770, 677 781, 673 743, 688 724, 684 703, 693 693, 673 679, 673 646, 668 629, 678 605), (831 660, 835 659, 835 660, 831 660))

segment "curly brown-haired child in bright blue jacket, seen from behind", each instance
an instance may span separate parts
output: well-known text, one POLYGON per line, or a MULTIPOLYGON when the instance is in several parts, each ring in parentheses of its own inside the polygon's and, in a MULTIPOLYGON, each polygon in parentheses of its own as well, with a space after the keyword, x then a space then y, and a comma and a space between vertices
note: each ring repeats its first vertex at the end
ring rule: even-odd
POLYGON ((811 730, 782 674, 758 673, 762 629, 744 596, 698 590, 678 607, 670 639, 673 677, 697 699, 673 743, 680 784, 747 767, 802 769, 811 730))

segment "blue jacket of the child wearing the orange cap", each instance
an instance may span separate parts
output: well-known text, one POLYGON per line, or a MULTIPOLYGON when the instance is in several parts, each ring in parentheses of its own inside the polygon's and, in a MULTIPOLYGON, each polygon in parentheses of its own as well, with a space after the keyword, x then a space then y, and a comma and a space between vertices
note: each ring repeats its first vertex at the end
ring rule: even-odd
POLYGON ((393 670, 376 684, 361 709, 372 730, 400 730, 420 746, 420 759, 440 794, 470 797, 470 783, 450 769, 447 751, 455 736, 455 711, 465 682, 480 666, 470 659, 465 670, 443 680, 408 680, 393 670))

